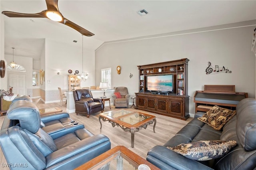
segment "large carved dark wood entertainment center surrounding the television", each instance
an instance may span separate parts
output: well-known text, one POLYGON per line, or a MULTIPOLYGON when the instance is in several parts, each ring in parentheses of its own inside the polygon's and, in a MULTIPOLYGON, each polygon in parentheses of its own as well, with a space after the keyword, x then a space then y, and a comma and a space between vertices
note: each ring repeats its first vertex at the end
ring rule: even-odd
POLYGON ((189 117, 188 61, 178 59, 162 63, 138 65, 139 92, 136 109, 186 120, 189 117), (147 76, 172 75, 172 92, 150 91, 147 76))

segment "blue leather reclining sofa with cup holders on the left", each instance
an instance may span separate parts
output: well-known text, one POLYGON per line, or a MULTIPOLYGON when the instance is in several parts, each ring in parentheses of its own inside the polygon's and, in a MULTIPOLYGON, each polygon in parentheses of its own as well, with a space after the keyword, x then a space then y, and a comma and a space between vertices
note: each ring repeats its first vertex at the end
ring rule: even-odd
POLYGON ((30 101, 13 102, 0 131, 10 169, 74 169, 110 149, 103 134, 94 135, 72 119, 61 122, 69 119, 65 113, 41 118, 30 101))

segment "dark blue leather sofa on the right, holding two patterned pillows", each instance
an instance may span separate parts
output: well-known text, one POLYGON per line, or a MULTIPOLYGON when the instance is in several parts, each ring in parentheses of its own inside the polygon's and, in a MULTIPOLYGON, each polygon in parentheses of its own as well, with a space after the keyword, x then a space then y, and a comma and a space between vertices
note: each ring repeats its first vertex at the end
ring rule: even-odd
POLYGON ((154 146, 147 160, 162 170, 256 170, 256 99, 243 99, 236 112, 221 131, 196 119, 204 114, 197 113, 164 146, 154 146), (166 148, 199 140, 236 140, 237 145, 222 158, 208 161, 191 160, 166 148))

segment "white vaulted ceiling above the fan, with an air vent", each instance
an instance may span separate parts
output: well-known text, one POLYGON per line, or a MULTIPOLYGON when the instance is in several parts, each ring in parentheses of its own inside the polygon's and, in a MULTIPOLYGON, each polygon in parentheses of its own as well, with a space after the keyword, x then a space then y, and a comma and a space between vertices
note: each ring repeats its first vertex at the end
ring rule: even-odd
MULTIPOLYGON (((47 9, 44 0, 1 0, 0 6, 1 12, 47 9)), ((58 8, 65 18, 95 34, 84 36, 89 49, 108 41, 256 20, 254 0, 59 0, 58 8), (148 15, 137 14, 142 9, 148 15)), ((47 18, 4 16, 4 20, 5 54, 12 55, 15 47, 15 55, 39 58, 45 38, 70 45, 82 41, 76 30, 47 18)))

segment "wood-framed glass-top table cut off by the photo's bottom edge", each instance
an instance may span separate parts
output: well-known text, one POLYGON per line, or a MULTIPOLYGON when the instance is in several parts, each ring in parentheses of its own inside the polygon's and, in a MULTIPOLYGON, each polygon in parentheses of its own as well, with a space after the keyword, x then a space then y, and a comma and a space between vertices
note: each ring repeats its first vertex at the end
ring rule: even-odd
POLYGON ((138 170, 141 164, 150 170, 160 170, 128 148, 116 146, 75 170, 138 170))

